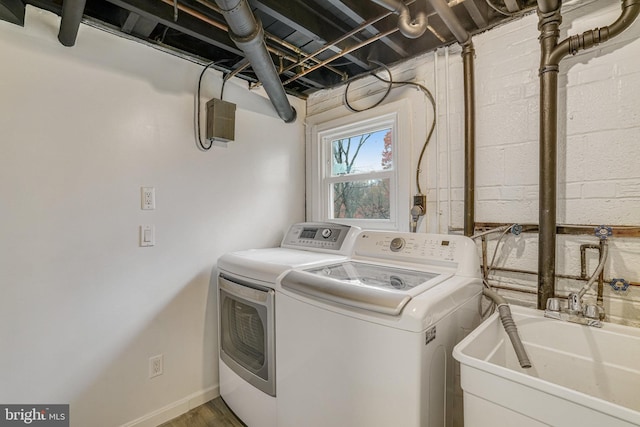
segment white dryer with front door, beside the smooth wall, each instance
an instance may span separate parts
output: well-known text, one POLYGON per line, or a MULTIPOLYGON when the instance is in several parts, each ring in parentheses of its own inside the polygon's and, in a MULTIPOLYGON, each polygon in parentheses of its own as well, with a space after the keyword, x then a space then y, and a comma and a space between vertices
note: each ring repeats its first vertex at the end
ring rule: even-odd
POLYGON ((219 258, 220 395, 249 427, 276 426, 277 277, 294 267, 346 259, 358 232, 339 224, 298 223, 280 247, 219 258))

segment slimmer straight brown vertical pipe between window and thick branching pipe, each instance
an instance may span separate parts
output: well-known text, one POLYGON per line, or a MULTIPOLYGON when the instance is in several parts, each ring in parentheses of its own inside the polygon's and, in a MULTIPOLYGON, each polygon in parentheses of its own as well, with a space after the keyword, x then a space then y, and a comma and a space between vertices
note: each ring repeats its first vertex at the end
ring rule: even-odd
POLYGON ((464 67, 464 235, 473 236, 475 231, 475 82, 473 56, 475 50, 471 40, 462 47, 464 67))

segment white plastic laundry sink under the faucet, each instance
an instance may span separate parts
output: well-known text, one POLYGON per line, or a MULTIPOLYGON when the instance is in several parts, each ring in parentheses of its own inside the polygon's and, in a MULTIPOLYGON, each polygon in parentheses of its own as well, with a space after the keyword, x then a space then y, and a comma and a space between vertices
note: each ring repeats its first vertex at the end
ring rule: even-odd
POLYGON ((520 367, 497 313, 462 340, 465 427, 640 426, 639 328, 511 311, 533 366, 520 367))

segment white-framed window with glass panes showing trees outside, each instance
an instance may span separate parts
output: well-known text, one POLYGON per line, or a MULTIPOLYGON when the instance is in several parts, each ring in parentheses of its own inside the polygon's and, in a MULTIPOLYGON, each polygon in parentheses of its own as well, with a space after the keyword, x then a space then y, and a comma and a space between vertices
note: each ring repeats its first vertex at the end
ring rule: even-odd
POLYGON ((410 169, 401 149, 409 145, 408 122, 401 101, 312 126, 312 220, 400 229, 399 214, 408 215, 398 206, 408 200, 408 177, 400 173, 410 169))

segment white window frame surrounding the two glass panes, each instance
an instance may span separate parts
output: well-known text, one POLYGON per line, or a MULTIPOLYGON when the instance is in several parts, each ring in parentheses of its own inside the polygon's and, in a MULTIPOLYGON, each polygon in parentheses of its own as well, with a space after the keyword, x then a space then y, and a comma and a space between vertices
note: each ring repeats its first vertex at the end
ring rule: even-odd
POLYGON ((307 135, 307 206, 311 221, 355 225, 365 229, 408 231, 411 171, 411 111, 407 100, 391 102, 361 113, 348 114, 327 121, 317 119, 307 135), (390 170, 331 176, 331 142, 336 139, 391 128, 393 167, 390 170), (351 179, 347 179, 347 177, 351 179), (336 182, 367 179, 390 179, 389 219, 331 218, 332 186, 336 182), (405 201, 406 203, 403 203, 405 201))

